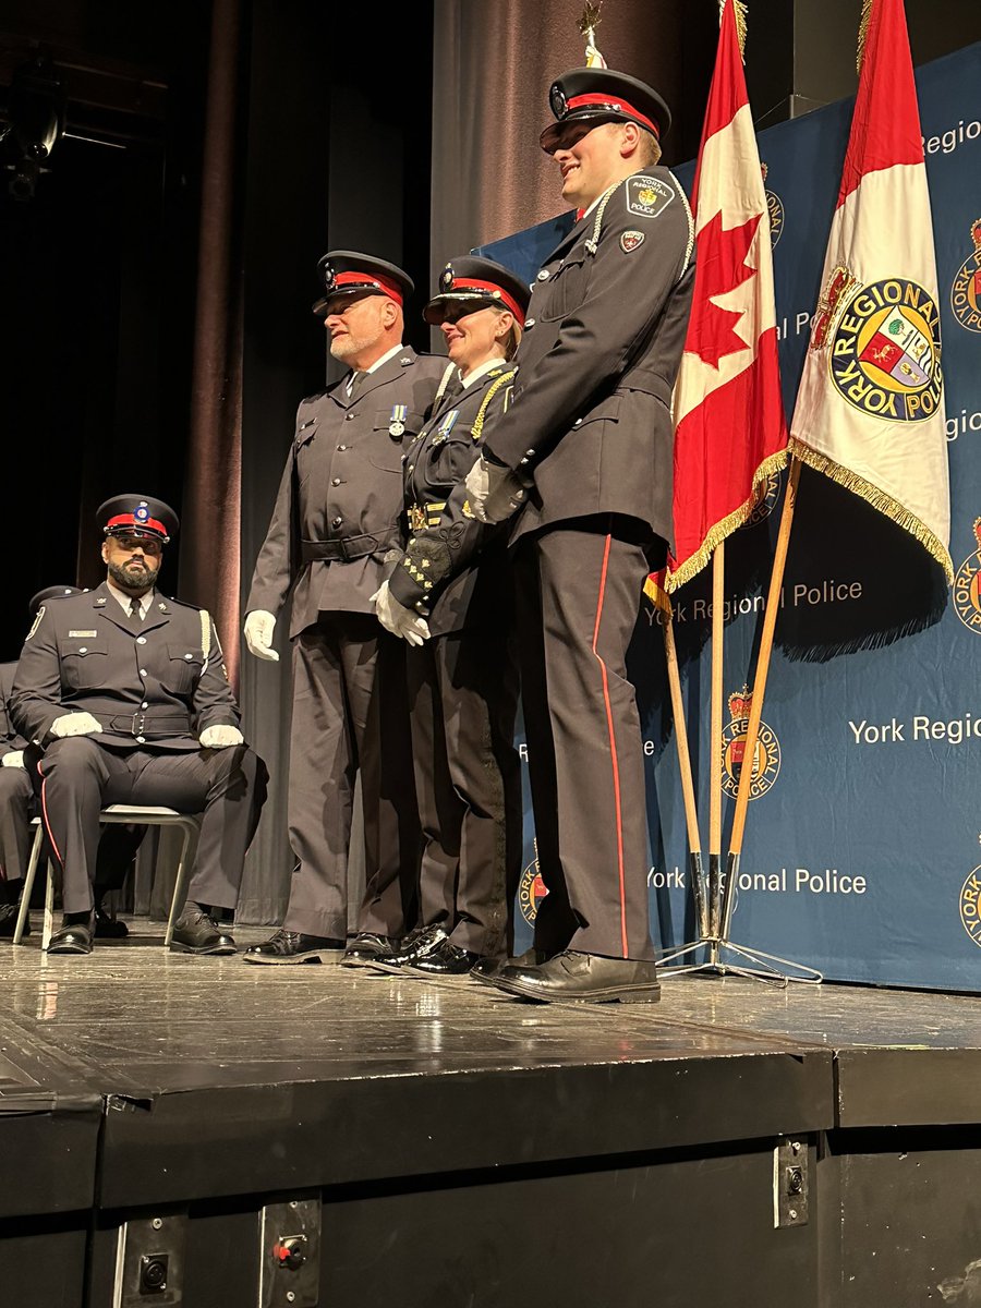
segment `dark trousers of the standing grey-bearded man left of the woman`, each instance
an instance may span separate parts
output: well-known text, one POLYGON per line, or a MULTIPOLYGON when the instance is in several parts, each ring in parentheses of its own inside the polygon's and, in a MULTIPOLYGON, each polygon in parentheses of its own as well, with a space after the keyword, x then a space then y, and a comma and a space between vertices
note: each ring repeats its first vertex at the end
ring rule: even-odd
POLYGON ((358 930, 402 937, 415 923, 420 844, 404 644, 373 613, 322 613, 293 640, 288 819, 297 866, 288 931, 347 935, 358 768, 366 882, 358 930))

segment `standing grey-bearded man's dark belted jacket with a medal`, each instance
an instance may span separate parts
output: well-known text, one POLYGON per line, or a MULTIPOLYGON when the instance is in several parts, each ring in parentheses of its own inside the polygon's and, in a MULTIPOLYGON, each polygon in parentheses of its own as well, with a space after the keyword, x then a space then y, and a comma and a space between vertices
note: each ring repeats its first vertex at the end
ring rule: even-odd
POLYGON ((445 358, 405 347, 351 398, 343 379, 301 403, 246 612, 276 613, 290 587, 290 636, 320 611, 374 611, 383 556, 399 542, 402 454, 445 370, 445 358))

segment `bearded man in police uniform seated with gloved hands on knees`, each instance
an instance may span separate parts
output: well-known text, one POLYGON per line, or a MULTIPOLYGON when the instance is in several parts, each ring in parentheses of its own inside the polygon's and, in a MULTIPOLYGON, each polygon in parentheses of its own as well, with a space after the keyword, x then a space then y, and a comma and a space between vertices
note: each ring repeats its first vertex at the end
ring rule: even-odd
POLYGON ((44 749, 42 812, 63 867, 64 920, 50 954, 89 954, 99 811, 114 803, 203 812, 173 948, 234 954, 233 909, 266 799, 245 744, 211 616, 156 589, 173 509, 123 494, 98 511, 106 581, 42 606, 17 666, 13 723, 44 749))

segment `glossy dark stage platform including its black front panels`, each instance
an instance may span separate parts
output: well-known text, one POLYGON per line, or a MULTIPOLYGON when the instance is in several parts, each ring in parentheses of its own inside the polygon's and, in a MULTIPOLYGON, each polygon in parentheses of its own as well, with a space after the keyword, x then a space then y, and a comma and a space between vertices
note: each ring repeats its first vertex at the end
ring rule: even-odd
POLYGON ((794 1283, 802 1308, 912 1308, 981 1256, 961 1198, 981 997, 679 976, 659 1005, 542 1006, 470 980, 165 954, 145 920, 90 957, 46 957, 39 931, 3 942, 0 990, 0 1284, 33 1296, 18 1305, 128 1304, 118 1237, 150 1213, 183 1214, 184 1305, 255 1303, 258 1214, 310 1194, 331 1231, 324 1304, 398 1286, 422 1305, 443 1286, 449 1308, 646 1290, 776 1308, 794 1283), (781 1142, 811 1177, 791 1230, 781 1142), (738 1287, 692 1260, 701 1224, 719 1266, 752 1270, 738 1287), (532 1232, 553 1261, 511 1265, 532 1232), (25 1240, 43 1248, 29 1271, 25 1240), (39 1294, 37 1267, 72 1260, 84 1294, 67 1271, 39 1294))

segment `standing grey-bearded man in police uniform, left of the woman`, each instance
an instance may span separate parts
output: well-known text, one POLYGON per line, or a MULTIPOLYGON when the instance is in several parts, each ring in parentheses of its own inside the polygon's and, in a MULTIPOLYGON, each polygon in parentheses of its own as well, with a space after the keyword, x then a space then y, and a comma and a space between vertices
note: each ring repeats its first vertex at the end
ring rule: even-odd
POLYGON ((404 646, 378 625, 371 596, 399 540, 403 449, 422 425, 446 360, 402 344, 413 286, 400 268, 335 250, 319 271, 324 298, 314 313, 351 371, 300 405, 246 603, 246 645, 275 659, 276 613, 292 590, 289 840, 297 859, 283 929, 246 951, 250 963, 319 963, 344 947, 358 766, 368 887, 352 951, 361 959, 387 951, 413 925, 403 895, 407 882, 415 886, 420 838, 404 646))

